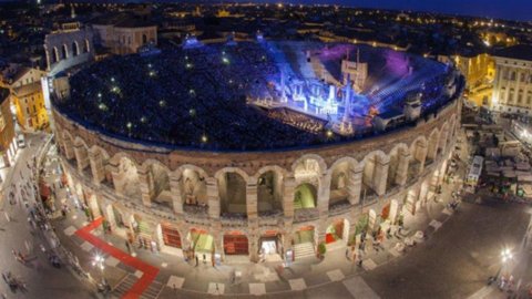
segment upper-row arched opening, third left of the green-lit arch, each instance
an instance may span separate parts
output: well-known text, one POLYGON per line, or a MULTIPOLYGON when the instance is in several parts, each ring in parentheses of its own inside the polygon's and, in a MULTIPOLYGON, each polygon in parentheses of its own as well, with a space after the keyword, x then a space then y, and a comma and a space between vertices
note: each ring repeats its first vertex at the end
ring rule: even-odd
POLYGON ((201 209, 206 213, 208 200, 205 177, 192 168, 185 168, 180 184, 185 212, 200 212, 201 209))

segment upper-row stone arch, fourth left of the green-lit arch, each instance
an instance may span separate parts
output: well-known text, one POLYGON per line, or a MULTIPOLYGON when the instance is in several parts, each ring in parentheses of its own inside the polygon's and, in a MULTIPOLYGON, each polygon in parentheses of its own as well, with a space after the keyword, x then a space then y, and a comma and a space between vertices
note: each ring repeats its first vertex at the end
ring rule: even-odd
POLYGON ((149 158, 140 169, 145 176, 144 185, 147 187, 150 202, 172 206, 168 167, 157 159, 149 158))

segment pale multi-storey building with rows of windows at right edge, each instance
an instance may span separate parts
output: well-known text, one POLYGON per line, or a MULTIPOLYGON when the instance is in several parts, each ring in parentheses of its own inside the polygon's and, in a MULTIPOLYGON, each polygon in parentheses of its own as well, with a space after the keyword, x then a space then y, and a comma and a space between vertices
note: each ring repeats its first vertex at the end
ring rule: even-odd
POLYGON ((493 110, 532 114, 532 47, 513 45, 495 52, 493 58, 493 110))

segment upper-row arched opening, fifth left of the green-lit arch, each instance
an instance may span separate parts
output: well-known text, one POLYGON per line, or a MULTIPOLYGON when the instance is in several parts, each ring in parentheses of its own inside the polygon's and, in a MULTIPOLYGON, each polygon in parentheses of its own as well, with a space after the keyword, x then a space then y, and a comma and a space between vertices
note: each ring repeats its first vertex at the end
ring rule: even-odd
POLYGON ((113 177, 114 188, 125 197, 140 198, 141 187, 136 166, 129 157, 121 157, 119 172, 113 177))

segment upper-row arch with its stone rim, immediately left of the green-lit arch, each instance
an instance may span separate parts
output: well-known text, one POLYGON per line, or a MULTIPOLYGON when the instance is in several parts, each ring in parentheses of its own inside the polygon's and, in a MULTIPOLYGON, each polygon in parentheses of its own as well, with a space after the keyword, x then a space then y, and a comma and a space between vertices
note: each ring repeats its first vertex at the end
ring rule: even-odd
POLYGON ((259 214, 283 210, 284 178, 286 176, 287 172, 284 168, 270 165, 260 168, 252 177, 257 183, 257 212, 259 214))

